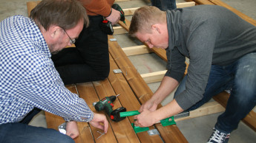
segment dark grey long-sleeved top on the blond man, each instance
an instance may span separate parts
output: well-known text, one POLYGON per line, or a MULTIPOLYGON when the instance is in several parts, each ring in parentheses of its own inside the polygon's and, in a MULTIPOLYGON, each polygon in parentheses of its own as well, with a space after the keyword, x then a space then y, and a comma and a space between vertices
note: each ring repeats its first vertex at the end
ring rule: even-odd
POLYGON ((165 76, 180 82, 189 58, 186 91, 175 97, 184 110, 203 98, 211 65, 225 66, 256 52, 256 27, 216 5, 167 10, 168 65, 165 76))

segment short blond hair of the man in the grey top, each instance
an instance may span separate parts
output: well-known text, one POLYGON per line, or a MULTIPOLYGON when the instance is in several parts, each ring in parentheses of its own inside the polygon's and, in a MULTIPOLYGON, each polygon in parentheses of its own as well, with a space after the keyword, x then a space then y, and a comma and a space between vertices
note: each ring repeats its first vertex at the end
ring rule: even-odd
POLYGON ((151 33, 151 26, 166 22, 166 13, 157 7, 144 6, 134 12, 131 18, 129 34, 133 37, 137 32, 151 33))

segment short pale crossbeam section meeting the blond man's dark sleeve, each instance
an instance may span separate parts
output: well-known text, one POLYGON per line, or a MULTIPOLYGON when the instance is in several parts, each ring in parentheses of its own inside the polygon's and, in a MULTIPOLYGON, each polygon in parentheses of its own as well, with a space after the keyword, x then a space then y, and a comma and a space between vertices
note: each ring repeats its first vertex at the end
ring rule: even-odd
POLYGON ((163 80, 163 77, 165 76, 167 70, 165 71, 156 71, 151 72, 147 74, 140 74, 143 80, 145 80, 145 83, 157 83, 163 80))

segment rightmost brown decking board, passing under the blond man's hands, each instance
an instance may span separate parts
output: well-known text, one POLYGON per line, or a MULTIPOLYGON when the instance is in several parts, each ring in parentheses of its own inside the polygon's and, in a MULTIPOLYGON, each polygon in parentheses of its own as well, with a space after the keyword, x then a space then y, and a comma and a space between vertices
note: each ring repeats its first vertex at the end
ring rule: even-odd
MULTIPOLYGON (((113 36, 109 35, 108 38, 113 38, 113 36)), ((132 90, 134 91, 134 94, 137 96, 140 102, 144 103, 148 101, 153 95, 153 92, 151 91, 151 89, 142 79, 142 77, 137 72, 135 67, 132 65, 131 61, 128 59, 125 53, 122 51, 118 43, 116 41, 112 41, 112 42, 110 41, 108 44, 109 44, 109 52, 111 56, 114 58, 116 65, 119 66, 119 69, 122 70, 123 76, 126 78, 127 82, 130 84, 132 90), (126 74, 126 71, 127 71, 127 74, 126 74)), ((158 108, 160 107, 161 105, 158 106, 158 108)), ((157 126, 157 129, 160 129, 160 134, 162 135, 163 140, 165 140, 165 142, 173 142, 173 139, 174 139, 174 138, 168 138, 169 135, 166 133, 170 133, 170 131, 166 131, 166 130, 177 130, 177 132, 180 132, 180 130, 177 128, 176 125, 174 125, 174 127, 173 126, 163 127, 160 124, 156 126, 157 126)), ((178 141, 187 142, 182 133, 179 135, 180 135, 178 136, 179 139, 177 139, 178 141)))

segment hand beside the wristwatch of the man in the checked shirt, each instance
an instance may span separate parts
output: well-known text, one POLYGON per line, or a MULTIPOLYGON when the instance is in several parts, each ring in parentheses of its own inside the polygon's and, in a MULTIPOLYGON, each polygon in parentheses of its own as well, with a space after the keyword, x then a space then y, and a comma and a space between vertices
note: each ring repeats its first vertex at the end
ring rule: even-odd
POLYGON ((66 135, 70 136, 72 139, 75 139, 76 136, 79 136, 79 130, 76 125, 76 121, 67 122, 66 135))

